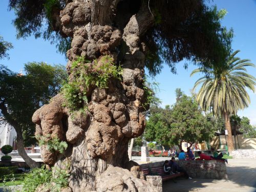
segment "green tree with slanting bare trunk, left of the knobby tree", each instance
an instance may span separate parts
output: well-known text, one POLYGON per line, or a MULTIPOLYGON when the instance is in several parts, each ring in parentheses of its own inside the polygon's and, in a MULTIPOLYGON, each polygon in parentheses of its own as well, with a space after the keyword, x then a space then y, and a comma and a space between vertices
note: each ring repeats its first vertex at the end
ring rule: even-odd
POLYGON ((33 137, 35 124, 33 113, 57 94, 61 81, 67 79, 65 67, 50 66, 44 62, 29 62, 25 65, 26 74, 16 74, 7 67, 0 66, 0 110, 17 133, 17 146, 20 156, 30 167, 35 162, 30 159, 24 146, 36 143, 33 137))

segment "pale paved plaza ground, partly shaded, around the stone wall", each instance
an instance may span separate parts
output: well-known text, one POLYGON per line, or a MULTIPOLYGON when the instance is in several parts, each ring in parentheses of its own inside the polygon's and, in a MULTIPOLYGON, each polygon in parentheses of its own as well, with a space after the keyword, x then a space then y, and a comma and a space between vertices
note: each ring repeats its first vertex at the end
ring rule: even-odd
MULTIPOLYGON (((166 157, 151 157, 151 161, 168 160, 166 157)), ((140 162, 140 157, 133 157, 140 162)), ((228 159, 228 180, 196 179, 187 180, 177 178, 163 182, 163 192, 256 192, 256 160, 255 159, 228 159)))

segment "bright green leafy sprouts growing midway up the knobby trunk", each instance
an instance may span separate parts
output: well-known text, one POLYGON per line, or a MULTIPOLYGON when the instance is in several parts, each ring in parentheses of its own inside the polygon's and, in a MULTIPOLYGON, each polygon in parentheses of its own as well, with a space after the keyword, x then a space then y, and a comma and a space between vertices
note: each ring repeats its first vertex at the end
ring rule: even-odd
POLYGON ((67 100, 66 106, 71 112, 87 106, 87 93, 90 87, 108 88, 110 78, 121 78, 122 68, 115 66, 114 59, 109 55, 94 60, 93 65, 87 65, 90 61, 78 57, 71 66, 73 78, 62 88, 62 93, 67 100), (100 63, 99 63, 100 62, 100 63))

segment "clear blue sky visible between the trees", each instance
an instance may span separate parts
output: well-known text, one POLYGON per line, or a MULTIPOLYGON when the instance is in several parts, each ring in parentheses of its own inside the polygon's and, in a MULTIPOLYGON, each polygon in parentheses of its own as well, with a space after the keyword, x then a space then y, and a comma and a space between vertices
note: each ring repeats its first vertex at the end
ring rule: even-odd
MULTIPOLYGON (((0 60, 0 64, 8 66, 9 69, 19 72, 24 67, 24 63, 31 61, 44 61, 51 64, 66 65, 65 55, 56 53, 55 45, 43 39, 35 39, 33 36, 24 39, 16 39, 16 30, 12 25, 15 15, 8 11, 8 0, 0 1, 0 35, 6 41, 12 42, 14 49, 10 50, 10 59, 0 60)), ((227 28, 233 28, 234 38, 232 42, 233 50, 241 50, 238 54, 241 58, 250 59, 256 64, 256 1, 254 0, 215 0, 212 5, 216 4, 218 9, 225 8, 227 15, 222 24, 227 28)), ((196 80, 202 75, 189 77, 191 71, 196 66, 189 65, 188 69, 183 68, 183 63, 178 63, 177 74, 170 73, 168 67, 164 67, 162 73, 157 75, 154 81, 160 83, 160 92, 158 97, 162 100, 162 106, 173 104, 175 102, 175 89, 181 88, 183 92, 190 95, 196 80)), ((256 76, 256 68, 248 68, 248 72, 256 76)), ((251 124, 256 124, 256 93, 248 91, 251 104, 250 106, 239 111, 238 115, 246 116, 251 120, 251 124)))

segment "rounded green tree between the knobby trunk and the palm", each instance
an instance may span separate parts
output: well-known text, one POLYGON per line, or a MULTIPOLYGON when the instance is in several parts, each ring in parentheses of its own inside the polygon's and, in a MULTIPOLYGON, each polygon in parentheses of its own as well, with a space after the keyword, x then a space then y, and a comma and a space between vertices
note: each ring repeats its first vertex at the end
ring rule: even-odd
POLYGON ((147 121, 145 139, 160 144, 178 145, 185 141, 208 141, 217 131, 217 122, 211 114, 203 115, 194 97, 177 89, 177 102, 165 109, 155 108, 147 121), (181 94, 182 93, 182 94, 181 94))

